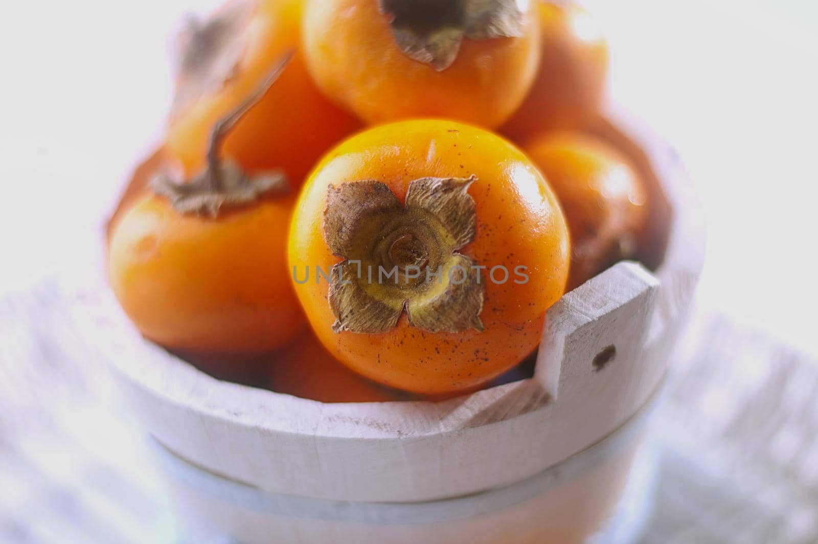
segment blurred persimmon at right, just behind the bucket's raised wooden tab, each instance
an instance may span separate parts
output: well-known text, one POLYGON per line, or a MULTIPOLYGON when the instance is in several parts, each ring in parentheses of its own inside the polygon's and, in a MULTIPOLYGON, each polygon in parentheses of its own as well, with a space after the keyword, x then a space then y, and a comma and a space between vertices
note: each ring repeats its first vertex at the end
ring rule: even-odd
POLYGON ((627 158, 582 133, 553 133, 525 147, 554 190, 571 234, 569 289, 622 259, 635 259, 648 197, 627 158))

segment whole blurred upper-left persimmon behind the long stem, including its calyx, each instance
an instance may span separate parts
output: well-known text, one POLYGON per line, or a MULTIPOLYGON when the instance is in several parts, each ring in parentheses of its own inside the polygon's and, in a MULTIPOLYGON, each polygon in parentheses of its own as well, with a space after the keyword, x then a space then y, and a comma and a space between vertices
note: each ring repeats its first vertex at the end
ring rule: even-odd
POLYGON ((312 83, 299 49, 303 0, 234 0, 186 33, 167 146, 187 173, 205 167, 210 127, 245 101, 285 52, 274 88, 222 143, 249 173, 283 169, 295 187, 330 146, 361 122, 312 83))

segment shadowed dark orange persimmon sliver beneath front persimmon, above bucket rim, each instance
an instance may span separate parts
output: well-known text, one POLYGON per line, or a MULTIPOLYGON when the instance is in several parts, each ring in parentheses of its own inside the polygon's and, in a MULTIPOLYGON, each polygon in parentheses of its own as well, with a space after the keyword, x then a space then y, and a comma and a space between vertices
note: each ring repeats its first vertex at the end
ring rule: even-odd
POLYGON ((338 362, 310 331, 272 357, 268 387, 278 393, 321 402, 400 400, 389 389, 338 362))

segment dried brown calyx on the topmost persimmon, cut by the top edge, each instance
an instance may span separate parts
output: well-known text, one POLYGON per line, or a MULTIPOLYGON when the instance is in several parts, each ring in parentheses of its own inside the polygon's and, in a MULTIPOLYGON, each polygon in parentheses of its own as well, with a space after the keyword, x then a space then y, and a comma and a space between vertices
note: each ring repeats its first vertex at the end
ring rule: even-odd
POLYGON ((527 0, 378 0, 398 48, 411 59, 446 70, 463 38, 519 38, 527 0))

